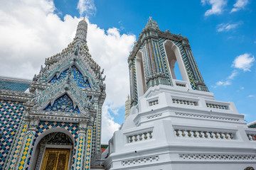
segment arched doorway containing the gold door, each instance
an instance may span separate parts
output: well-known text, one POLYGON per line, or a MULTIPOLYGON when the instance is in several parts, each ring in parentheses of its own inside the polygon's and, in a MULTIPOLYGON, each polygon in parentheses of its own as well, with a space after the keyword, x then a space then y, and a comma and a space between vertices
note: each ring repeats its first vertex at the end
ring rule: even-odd
POLYGON ((73 136, 62 128, 52 128, 40 135, 33 147, 30 169, 70 169, 73 161, 73 136))

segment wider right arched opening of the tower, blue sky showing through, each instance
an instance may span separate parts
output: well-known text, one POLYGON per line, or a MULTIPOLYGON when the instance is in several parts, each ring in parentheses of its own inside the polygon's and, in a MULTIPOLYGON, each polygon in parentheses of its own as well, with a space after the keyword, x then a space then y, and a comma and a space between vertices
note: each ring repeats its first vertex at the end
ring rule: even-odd
POLYGON ((166 40, 166 42, 164 42, 164 49, 169 63, 171 78, 188 82, 188 75, 186 74, 186 69, 181 58, 181 52, 178 47, 174 42, 166 40))

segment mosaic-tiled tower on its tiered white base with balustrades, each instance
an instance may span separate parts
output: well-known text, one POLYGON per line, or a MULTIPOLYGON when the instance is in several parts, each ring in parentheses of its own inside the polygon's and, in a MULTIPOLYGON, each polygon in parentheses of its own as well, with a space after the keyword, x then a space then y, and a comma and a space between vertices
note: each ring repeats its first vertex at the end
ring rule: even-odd
POLYGON ((188 38, 150 18, 128 63, 132 108, 102 153, 105 169, 256 168, 256 130, 233 102, 215 101, 188 38))

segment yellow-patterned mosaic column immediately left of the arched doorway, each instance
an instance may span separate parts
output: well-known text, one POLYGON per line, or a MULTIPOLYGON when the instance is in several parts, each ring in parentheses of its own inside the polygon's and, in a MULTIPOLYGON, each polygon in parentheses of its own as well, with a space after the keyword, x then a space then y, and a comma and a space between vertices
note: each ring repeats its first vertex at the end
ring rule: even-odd
POLYGON ((19 170, 26 169, 26 166, 28 165, 28 156, 31 152, 31 147, 36 135, 36 128, 38 127, 38 123, 38 119, 32 119, 29 123, 29 128, 26 132, 26 136, 23 141, 23 147, 21 148, 21 154, 18 159, 17 169, 19 170))

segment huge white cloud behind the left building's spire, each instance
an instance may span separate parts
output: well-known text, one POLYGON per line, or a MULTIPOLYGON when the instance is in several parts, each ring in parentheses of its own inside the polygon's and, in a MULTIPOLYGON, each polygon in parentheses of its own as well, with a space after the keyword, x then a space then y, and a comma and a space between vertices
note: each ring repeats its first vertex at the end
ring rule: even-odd
MULTIPOLYGON (((75 37, 79 19, 66 15, 61 21, 53 1, 5 1, 0 6, 0 76, 32 79, 46 57, 67 47, 75 37)), ((108 112, 117 113, 129 94, 127 57, 134 35, 120 35, 88 22, 87 44, 92 58, 105 69, 107 98, 102 108, 102 142, 119 125, 108 112)))

